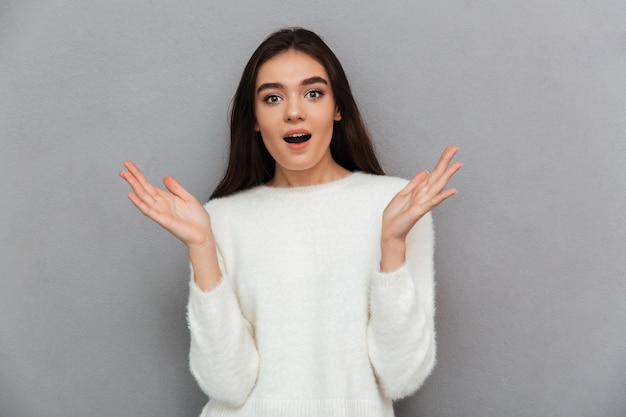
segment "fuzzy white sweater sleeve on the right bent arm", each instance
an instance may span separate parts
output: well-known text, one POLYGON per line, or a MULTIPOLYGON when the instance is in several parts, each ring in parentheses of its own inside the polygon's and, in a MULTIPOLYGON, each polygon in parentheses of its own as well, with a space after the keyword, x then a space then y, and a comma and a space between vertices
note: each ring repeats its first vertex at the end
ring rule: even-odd
POLYGON ((428 213, 407 236, 405 264, 372 277, 368 351, 381 390, 392 400, 415 392, 435 365, 433 255, 428 213))

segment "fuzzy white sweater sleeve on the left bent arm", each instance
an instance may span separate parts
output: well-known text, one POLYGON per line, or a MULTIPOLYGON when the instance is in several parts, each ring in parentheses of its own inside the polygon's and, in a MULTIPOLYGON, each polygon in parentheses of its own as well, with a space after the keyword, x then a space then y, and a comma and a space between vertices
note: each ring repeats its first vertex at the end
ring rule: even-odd
POLYGON ((256 384, 259 355, 254 328, 243 316, 227 276, 205 292, 196 285, 192 273, 189 286, 191 373, 209 398, 238 407, 256 384))

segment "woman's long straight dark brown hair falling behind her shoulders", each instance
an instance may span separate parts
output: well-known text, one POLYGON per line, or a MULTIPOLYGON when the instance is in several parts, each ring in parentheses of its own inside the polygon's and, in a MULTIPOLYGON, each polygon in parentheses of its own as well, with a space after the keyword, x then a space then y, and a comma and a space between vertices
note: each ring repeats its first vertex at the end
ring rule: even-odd
POLYGON ((330 78, 341 120, 333 126, 330 151, 339 165, 350 171, 383 175, 372 141, 352 96, 341 63, 315 33, 302 28, 282 29, 271 34, 248 61, 230 110, 230 153, 224 177, 211 199, 264 184, 272 179, 276 164, 255 131, 254 90, 261 65, 287 50, 306 53, 319 61, 330 78))

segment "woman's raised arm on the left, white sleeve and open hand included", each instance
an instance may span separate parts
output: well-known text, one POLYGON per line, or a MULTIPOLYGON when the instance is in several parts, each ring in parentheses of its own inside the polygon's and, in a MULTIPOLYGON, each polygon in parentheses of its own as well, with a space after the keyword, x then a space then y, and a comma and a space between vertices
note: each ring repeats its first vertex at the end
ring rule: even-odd
POLYGON ((190 368, 205 393, 220 402, 240 405, 256 381, 258 353, 252 326, 222 277, 209 213, 174 178, 166 190, 153 186, 132 162, 120 176, 133 192, 131 202, 187 246, 192 269, 188 321, 190 368))

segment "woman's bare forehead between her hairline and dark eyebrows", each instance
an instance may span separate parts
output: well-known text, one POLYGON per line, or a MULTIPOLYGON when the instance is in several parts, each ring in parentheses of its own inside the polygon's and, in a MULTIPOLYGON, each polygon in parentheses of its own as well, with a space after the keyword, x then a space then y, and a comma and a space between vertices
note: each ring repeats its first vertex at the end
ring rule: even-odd
POLYGON ((259 68, 256 86, 264 83, 299 84, 311 77, 322 77, 330 84, 324 66, 311 55, 288 50, 267 60, 259 68))

